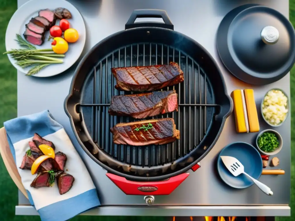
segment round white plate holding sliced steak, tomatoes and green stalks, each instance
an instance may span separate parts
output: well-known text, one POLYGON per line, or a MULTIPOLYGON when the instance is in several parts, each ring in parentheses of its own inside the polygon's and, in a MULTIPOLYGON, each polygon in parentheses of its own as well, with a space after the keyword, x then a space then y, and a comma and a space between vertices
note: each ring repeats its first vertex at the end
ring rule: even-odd
MULTIPOLYGON (((20 34, 23 38, 23 33, 26 29, 25 24, 27 24, 31 18, 38 16, 38 11, 42 9, 50 9, 54 10, 58 7, 62 7, 65 9, 68 9, 71 14, 72 18, 68 19, 68 21, 71 24, 71 28, 74 28, 79 33, 79 39, 75 43, 69 43, 69 49, 65 53, 65 57, 63 58, 62 64, 52 64, 44 69, 40 70, 37 74, 33 75, 36 77, 50 77, 57 75, 61 72, 64 72, 69 67, 71 67, 80 57, 84 45, 85 45, 85 39, 86 39, 86 29, 85 24, 83 21, 83 18, 80 14, 80 12, 68 1, 65 0, 48 0, 48 1, 40 1, 40 0, 31 0, 27 3, 23 4, 17 11, 13 14, 11 17, 7 29, 6 29, 6 35, 5 35, 5 46, 6 51, 9 51, 11 49, 19 49, 22 48, 19 46, 16 39, 16 34, 20 34)), ((56 21, 56 25, 59 24, 59 19, 56 21)), ((51 41, 47 41, 49 37, 49 31, 45 33, 45 41, 41 46, 35 45, 37 49, 47 49, 51 48, 51 41)), ((8 55, 8 58, 12 65, 19 71, 24 72, 25 74, 30 70, 30 67, 27 68, 21 68, 18 65, 15 64, 15 60, 8 55)))

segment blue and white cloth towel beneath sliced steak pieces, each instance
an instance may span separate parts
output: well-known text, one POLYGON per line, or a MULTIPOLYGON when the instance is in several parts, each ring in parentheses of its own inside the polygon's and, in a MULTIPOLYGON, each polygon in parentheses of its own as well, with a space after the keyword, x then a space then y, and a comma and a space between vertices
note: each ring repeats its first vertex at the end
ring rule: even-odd
POLYGON ((85 164, 63 127, 53 120, 48 110, 6 121, 4 127, 22 184, 42 221, 65 221, 100 206, 96 188, 85 164), (75 178, 69 192, 60 195, 56 182, 53 187, 31 187, 30 184, 36 175, 32 175, 30 170, 19 169, 25 152, 30 148, 28 142, 32 141, 34 133, 52 141, 55 152, 61 151, 67 156, 66 172, 75 178))

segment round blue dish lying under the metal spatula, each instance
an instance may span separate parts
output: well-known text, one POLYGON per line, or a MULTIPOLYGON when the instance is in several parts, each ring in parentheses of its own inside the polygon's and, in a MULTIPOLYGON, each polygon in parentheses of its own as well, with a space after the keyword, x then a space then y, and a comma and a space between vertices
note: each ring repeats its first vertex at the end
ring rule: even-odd
POLYGON ((220 156, 232 156, 237 158, 243 164, 246 173, 254 179, 260 178, 262 173, 262 159, 258 150, 251 144, 245 142, 229 144, 220 151, 217 159, 217 171, 224 183, 236 189, 250 187, 254 183, 244 174, 234 177, 234 175, 228 171, 220 156))

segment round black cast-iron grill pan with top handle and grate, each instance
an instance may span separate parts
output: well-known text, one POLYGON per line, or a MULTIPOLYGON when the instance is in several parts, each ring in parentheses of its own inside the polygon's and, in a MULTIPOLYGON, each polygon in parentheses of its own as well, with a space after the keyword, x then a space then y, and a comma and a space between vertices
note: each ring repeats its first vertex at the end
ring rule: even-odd
POLYGON ((135 10, 125 30, 102 40, 83 57, 65 99, 65 112, 84 151, 109 174, 128 182, 152 182, 183 174, 207 155, 232 112, 232 100, 211 55, 174 31, 165 11, 135 10), (164 23, 134 23, 137 17, 161 17, 164 23), (111 68, 169 62, 177 62, 184 74, 183 83, 163 89, 178 93, 178 112, 154 118, 174 118, 180 140, 160 146, 114 144, 109 128, 135 119, 108 114, 113 95, 131 93, 114 88, 111 68))

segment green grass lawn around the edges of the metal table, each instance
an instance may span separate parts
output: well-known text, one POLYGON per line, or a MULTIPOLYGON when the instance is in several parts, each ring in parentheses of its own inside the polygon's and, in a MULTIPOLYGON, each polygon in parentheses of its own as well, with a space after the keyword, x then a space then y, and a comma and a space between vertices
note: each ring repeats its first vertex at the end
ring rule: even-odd
MULTIPOLYGON (((5 51, 6 27, 14 11, 17 9, 16 0, 0 0, 0 52, 5 51)), ((295 0, 290 0, 290 20, 295 25, 295 0)), ((0 127, 3 122, 17 117, 17 75, 16 70, 10 64, 6 55, 0 53, 0 127)), ((290 84, 295 85, 295 68, 291 70, 290 84)), ((295 148, 295 88, 291 87, 291 148, 295 148)), ((279 221, 290 221, 295 219, 295 151, 291 152, 291 217, 277 217, 279 221)), ((15 216, 15 205, 17 205, 17 187, 9 177, 0 157, 0 220, 34 221, 40 220, 37 216, 15 216)), ((104 220, 104 221, 135 221, 135 220, 164 220, 163 217, 86 217, 77 216, 78 220, 104 220)))

